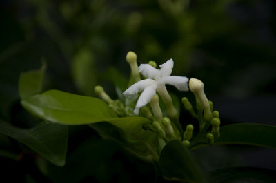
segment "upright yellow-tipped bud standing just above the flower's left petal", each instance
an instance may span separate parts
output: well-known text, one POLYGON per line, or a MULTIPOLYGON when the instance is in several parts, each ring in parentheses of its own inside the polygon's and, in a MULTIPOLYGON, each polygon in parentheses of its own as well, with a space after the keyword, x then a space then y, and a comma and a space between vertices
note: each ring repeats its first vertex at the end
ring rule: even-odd
POLYGON ((138 71, 137 55, 135 54, 135 52, 128 52, 128 54, 126 54, 126 61, 128 61, 130 65, 131 75, 135 81, 134 83, 137 83, 139 80, 141 80, 141 78, 138 71))

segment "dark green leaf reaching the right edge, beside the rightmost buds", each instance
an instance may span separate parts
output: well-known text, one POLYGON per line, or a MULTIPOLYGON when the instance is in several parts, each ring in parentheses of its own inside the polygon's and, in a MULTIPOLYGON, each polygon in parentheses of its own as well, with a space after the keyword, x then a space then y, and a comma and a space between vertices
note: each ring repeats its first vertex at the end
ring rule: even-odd
POLYGON ((276 148, 276 126, 253 123, 226 125, 215 144, 247 144, 276 148))

